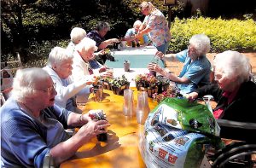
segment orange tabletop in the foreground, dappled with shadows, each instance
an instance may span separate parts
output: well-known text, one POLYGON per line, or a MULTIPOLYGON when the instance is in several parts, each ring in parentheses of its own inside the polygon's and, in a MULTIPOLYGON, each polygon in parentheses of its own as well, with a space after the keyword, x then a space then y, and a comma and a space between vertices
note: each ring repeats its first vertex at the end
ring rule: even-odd
MULTIPOLYGON (((137 89, 134 90, 135 107, 137 106, 137 89)), ((146 167, 138 149, 138 137, 143 125, 137 124, 136 116, 128 118, 123 114, 124 96, 113 95, 113 91, 104 90, 104 100, 94 102, 92 98, 81 107, 84 113, 90 109, 103 109, 109 123, 108 142, 98 142, 93 138, 89 143, 79 148, 73 158, 61 164, 68 167, 146 167)), ((152 110, 156 101, 148 98, 152 110)))

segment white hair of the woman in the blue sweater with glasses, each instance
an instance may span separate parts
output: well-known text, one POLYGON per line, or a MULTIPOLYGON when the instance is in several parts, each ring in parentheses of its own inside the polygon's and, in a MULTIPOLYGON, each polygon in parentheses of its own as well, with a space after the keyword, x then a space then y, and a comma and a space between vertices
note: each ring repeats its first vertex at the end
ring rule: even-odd
POLYGON ((19 69, 14 78, 11 96, 17 101, 32 97, 35 86, 44 83, 47 78, 50 78, 49 74, 39 67, 19 69))

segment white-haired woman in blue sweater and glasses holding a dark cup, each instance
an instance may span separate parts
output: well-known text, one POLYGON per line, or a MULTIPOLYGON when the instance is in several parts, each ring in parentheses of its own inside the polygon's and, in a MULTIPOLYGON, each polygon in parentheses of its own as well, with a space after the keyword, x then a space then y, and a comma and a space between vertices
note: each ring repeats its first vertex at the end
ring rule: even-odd
POLYGON ((16 72, 11 97, 1 107, 2 167, 43 167, 46 155, 55 165, 73 156, 92 137, 106 132, 108 121, 91 120, 54 105, 55 84, 41 68, 16 72), (81 126, 72 137, 65 128, 81 126))

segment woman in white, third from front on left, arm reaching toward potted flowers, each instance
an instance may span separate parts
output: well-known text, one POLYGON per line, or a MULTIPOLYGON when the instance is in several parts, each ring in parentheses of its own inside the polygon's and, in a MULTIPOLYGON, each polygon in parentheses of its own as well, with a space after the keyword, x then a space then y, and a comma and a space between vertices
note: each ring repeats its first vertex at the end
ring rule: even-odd
POLYGON ((96 51, 96 42, 90 38, 84 38, 73 53, 73 72, 74 81, 79 81, 82 78, 89 76, 112 77, 112 72, 99 72, 98 69, 92 69, 89 61, 94 59, 93 53, 96 51))

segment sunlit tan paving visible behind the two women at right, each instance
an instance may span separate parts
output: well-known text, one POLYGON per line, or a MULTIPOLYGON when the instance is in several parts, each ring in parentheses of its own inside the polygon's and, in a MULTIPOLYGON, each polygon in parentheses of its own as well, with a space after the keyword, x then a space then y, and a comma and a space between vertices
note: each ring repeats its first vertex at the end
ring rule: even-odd
MULTIPOLYGON (((247 58, 250 60, 251 65, 253 67, 253 74, 255 76, 256 75, 256 53, 242 53, 242 54, 246 55, 247 58)), ((215 53, 207 54, 208 60, 212 62, 214 55, 216 55, 216 54, 215 53)), ((178 75, 179 72, 181 72, 181 70, 182 70, 183 63, 181 63, 181 62, 166 62, 166 67, 168 67, 168 69, 171 72, 174 72, 176 75, 178 75)))

